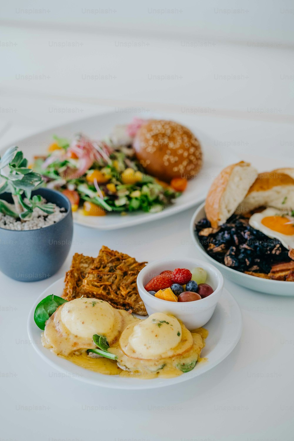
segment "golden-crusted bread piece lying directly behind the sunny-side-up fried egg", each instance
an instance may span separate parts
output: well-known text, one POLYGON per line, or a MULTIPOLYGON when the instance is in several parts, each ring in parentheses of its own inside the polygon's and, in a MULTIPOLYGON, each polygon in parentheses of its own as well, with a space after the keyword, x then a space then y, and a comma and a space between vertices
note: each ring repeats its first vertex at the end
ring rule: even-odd
POLYGON ((294 209, 294 178, 290 174, 291 168, 277 169, 272 172, 260 173, 249 188, 244 201, 238 207, 242 212, 265 206, 274 207, 283 211, 294 209), (281 171, 285 171, 284 173, 281 171))

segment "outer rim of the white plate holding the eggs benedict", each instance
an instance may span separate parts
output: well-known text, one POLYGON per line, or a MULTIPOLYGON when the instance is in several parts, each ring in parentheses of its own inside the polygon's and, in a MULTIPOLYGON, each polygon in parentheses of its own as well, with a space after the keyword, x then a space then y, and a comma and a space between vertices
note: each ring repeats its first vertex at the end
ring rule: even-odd
MULTIPOLYGON (((237 333, 236 333, 236 335, 234 335, 234 339, 232 340, 231 344, 227 346, 226 351, 223 352, 223 354, 220 356, 220 358, 218 358, 217 360, 212 362, 210 365, 205 364, 204 369, 199 368, 199 369, 195 370, 193 376, 190 375, 189 377, 185 377, 185 374, 182 374, 179 377, 153 378, 153 379, 149 379, 149 380, 141 380, 139 378, 127 378, 127 380, 131 380, 132 383, 124 383, 124 384, 118 383, 118 384, 116 384, 114 382, 108 383, 108 382, 103 381, 103 378, 112 377, 111 375, 104 375, 104 374, 97 373, 97 380, 96 380, 96 378, 95 378, 95 380, 93 380, 91 378, 87 378, 82 375, 73 375, 71 370, 67 370, 66 367, 60 366, 60 364, 58 364, 57 361, 55 362, 55 361, 51 360, 49 357, 47 357, 45 355, 45 353, 43 353, 41 348, 39 348, 40 345, 38 346, 37 342, 34 341, 33 335, 32 335, 32 332, 33 332, 32 326, 34 324, 33 313, 34 313, 34 310, 35 310, 37 304, 41 301, 41 299, 44 298, 45 295, 48 295, 48 290, 53 290, 55 288, 55 286, 59 286, 61 283, 64 283, 63 280, 64 280, 63 277, 61 277, 60 279, 53 282, 33 302, 33 305, 30 308, 30 312, 29 312, 28 318, 27 318, 27 333, 29 336, 29 340, 31 342, 30 346, 33 347, 33 349, 37 352, 37 354, 41 357, 41 359, 43 359, 49 366, 53 367, 54 369, 56 369, 59 372, 62 372, 63 374, 66 375, 66 377, 70 377, 70 378, 72 377, 74 379, 77 379, 78 381, 82 381, 84 383, 91 384, 93 386, 105 387, 108 389, 117 389, 117 390, 143 390, 143 389, 157 389, 160 387, 173 386, 173 385, 182 383, 183 381, 192 380, 198 376, 201 376, 201 374, 205 374, 206 372, 208 372, 209 370, 211 370, 212 368, 214 368, 215 366, 220 364, 224 359, 226 359, 227 356, 230 355, 231 352, 234 350, 234 348, 238 344, 238 341, 240 340, 241 335, 242 335, 243 319, 242 319, 242 312, 241 312, 240 306, 238 305, 238 302, 234 299, 234 296, 226 288, 223 288, 223 294, 226 295, 227 301, 230 301, 232 303, 231 308, 234 309, 234 314, 235 314, 235 319, 236 319, 235 321, 238 325, 238 327, 236 328, 237 333)), ((221 296, 219 302, 221 302, 222 298, 223 298, 223 295, 221 296)), ((229 322, 227 324, 229 324, 229 322)), ((35 326, 37 326, 37 325, 35 325, 35 326)), ((41 344, 41 335, 40 335, 39 343, 41 344)), ((56 356, 56 360, 58 360, 57 356, 56 356)), ((71 363, 68 360, 65 360, 65 361, 68 363, 71 363)), ((209 363, 209 359, 208 359, 208 363, 209 363)), ((71 365, 76 366, 76 368, 78 368, 78 370, 81 370, 81 371, 84 370, 84 368, 77 366, 77 365, 74 365, 73 363, 71 363, 71 365)), ((68 366, 71 366, 71 365, 68 365, 68 366)), ((115 376, 115 377, 119 378, 118 376, 115 376)))

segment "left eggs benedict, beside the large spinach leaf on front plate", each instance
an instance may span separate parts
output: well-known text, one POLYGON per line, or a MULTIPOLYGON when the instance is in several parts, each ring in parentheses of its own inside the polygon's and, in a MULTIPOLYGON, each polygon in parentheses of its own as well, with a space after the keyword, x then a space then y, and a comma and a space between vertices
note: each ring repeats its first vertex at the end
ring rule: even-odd
POLYGON ((63 303, 47 320, 42 343, 58 355, 96 348, 93 335, 103 335, 113 345, 127 325, 137 322, 124 310, 99 299, 74 299, 63 303))

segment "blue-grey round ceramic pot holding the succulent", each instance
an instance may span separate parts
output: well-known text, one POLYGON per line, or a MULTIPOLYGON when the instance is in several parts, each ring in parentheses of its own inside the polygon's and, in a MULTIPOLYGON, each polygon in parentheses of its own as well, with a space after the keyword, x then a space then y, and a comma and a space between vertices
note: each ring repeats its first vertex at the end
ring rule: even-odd
MULTIPOLYGON (((14 231, 0 228, 0 270, 11 279, 33 282, 51 277, 67 258, 71 247, 73 222, 71 203, 59 191, 40 188, 47 202, 66 209, 67 214, 56 224, 37 230, 14 231)), ((0 198, 13 202, 11 194, 0 198)))

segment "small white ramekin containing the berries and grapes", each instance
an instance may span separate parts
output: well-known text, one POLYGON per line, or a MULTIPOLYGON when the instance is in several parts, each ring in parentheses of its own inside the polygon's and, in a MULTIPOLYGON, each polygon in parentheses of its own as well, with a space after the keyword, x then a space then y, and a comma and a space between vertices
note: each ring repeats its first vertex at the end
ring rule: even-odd
POLYGON ((155 312, 173 314, 176 318, 182 320, 188 329, 192 330, 205 325, 212 317, 216 304, 223 292, 223 276, 215 266, 200 259, 161 259, 149 263, 140 271, 137 277, 137 286, 140 297, 149 315, 155 312), (211 285, 214 290, 214 292, 205 299, 195 300, 194 302, 169 302, 167 300, 157 299, 144 288, 150 279, 164 270, 169 269, 173 271, 175 268, 187 268, 191 270, 195 267, 205 269, 207 272, 207 280, 205 283, 211 285))

